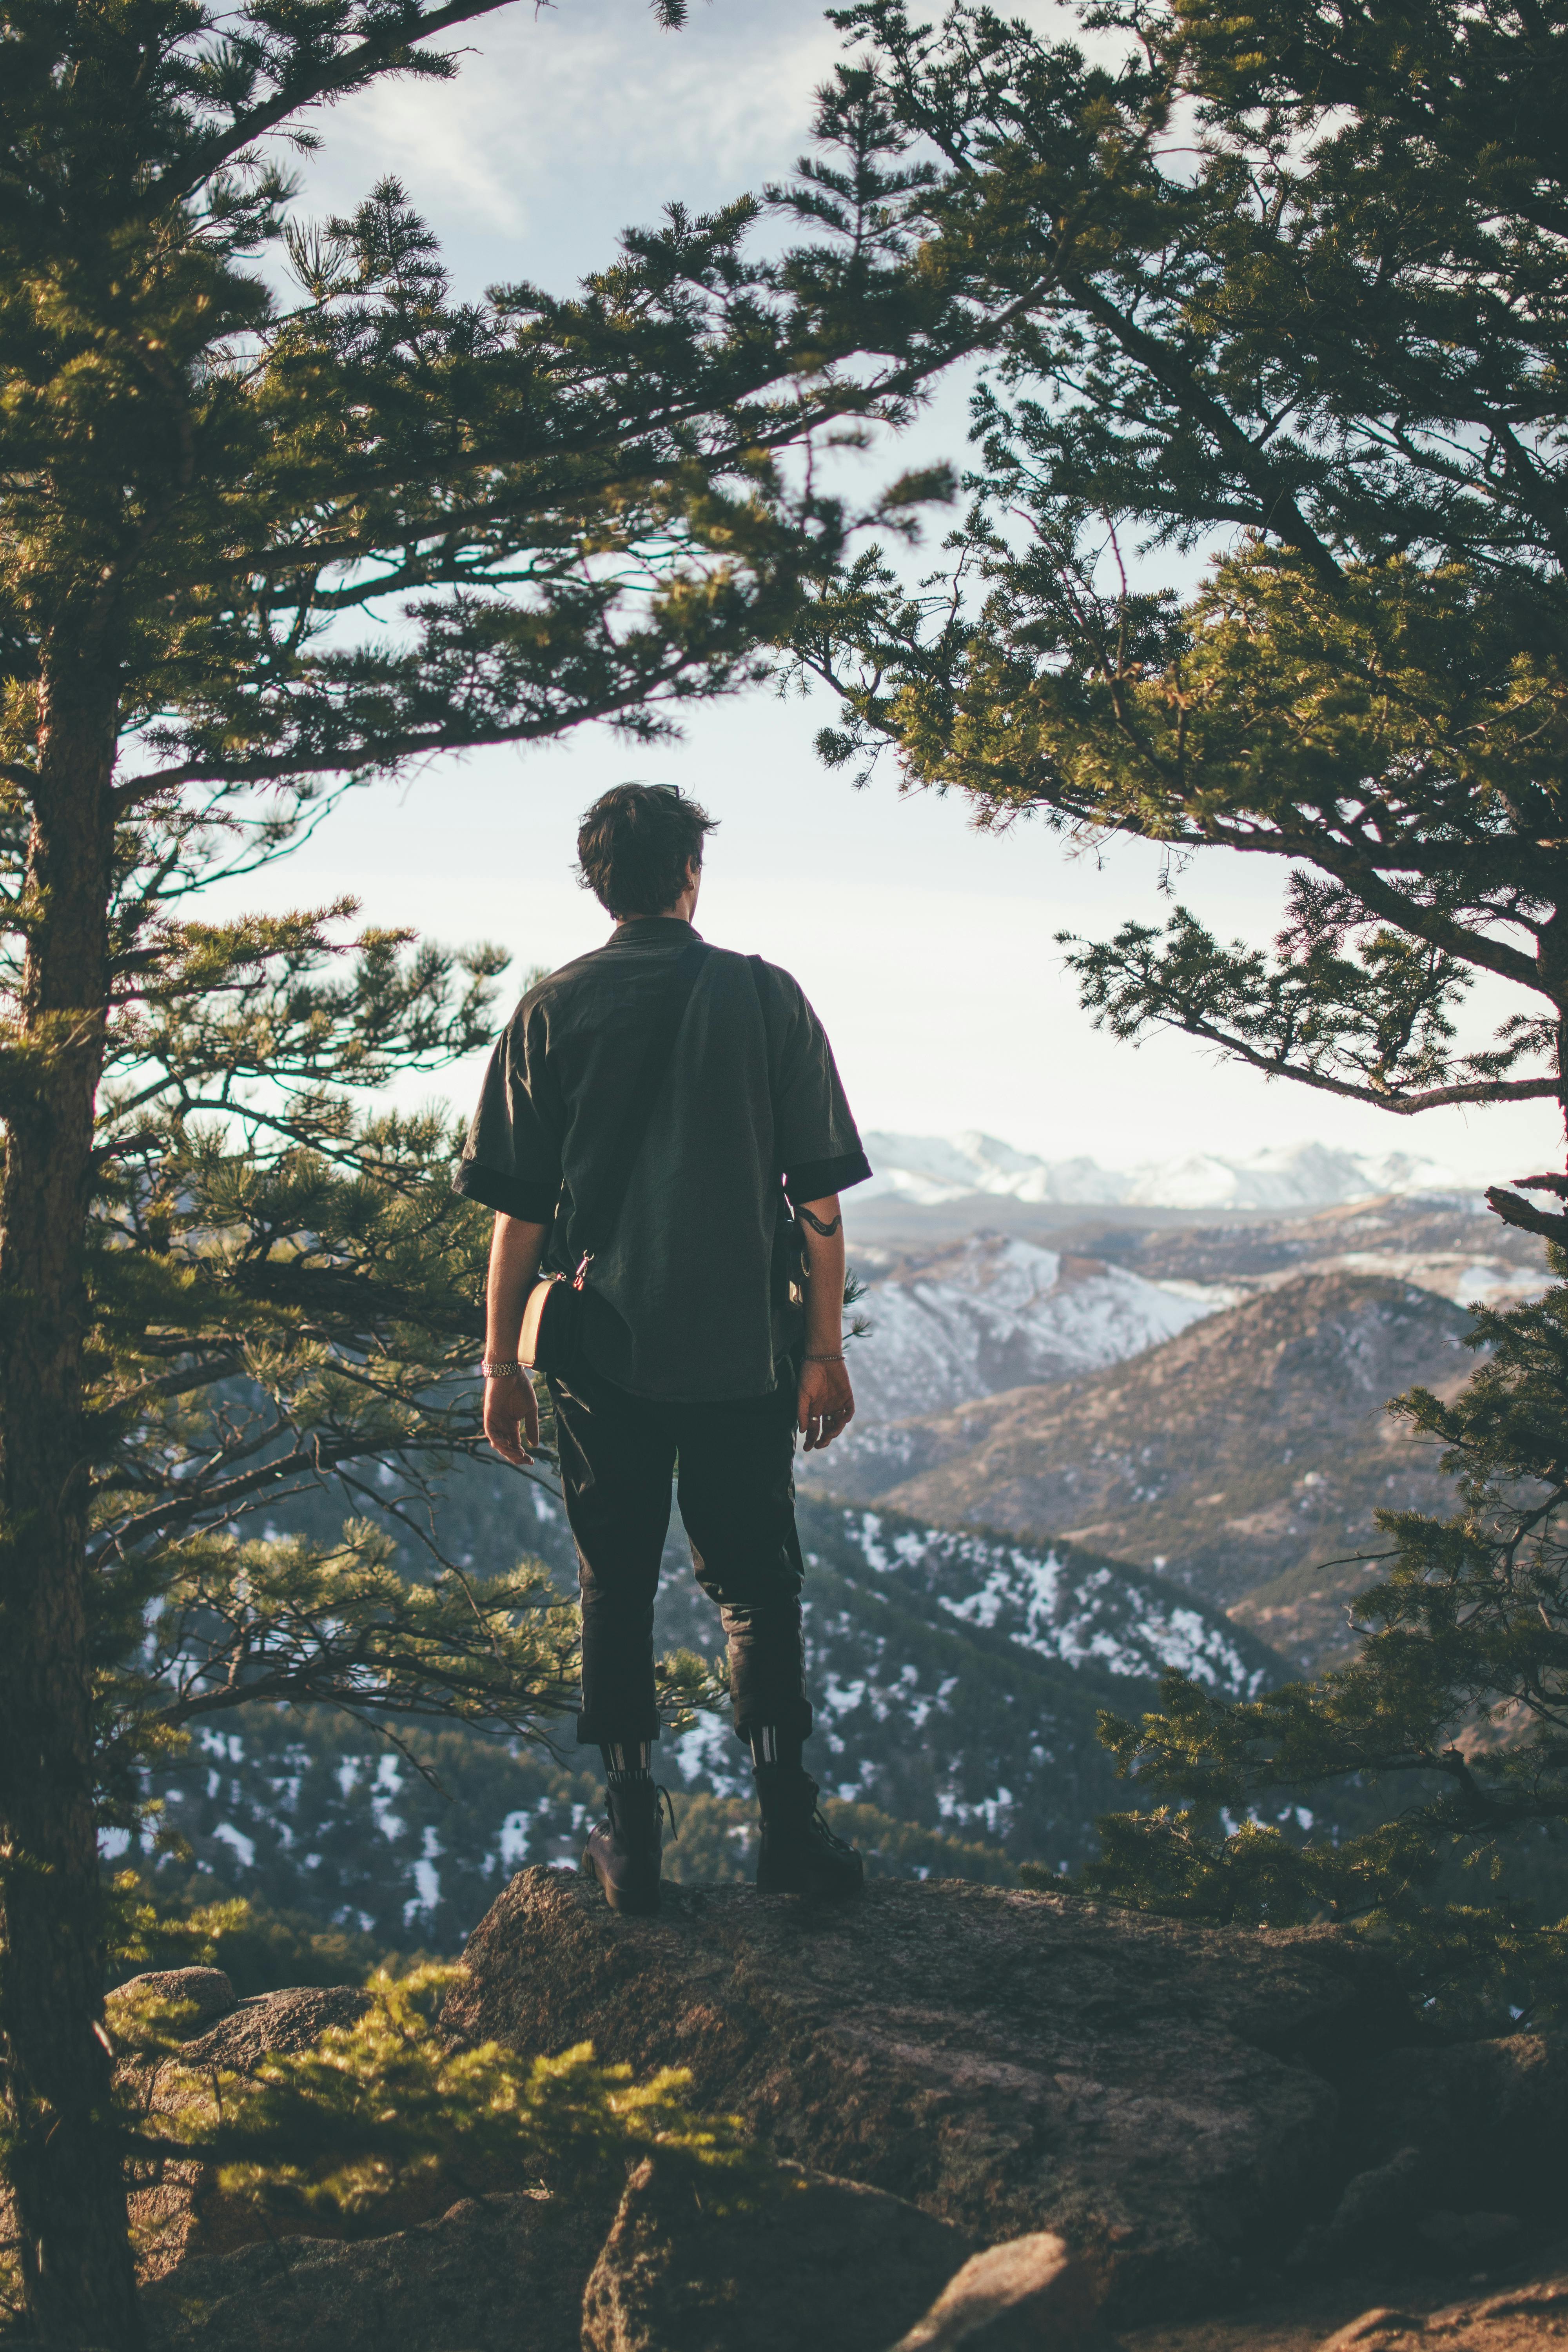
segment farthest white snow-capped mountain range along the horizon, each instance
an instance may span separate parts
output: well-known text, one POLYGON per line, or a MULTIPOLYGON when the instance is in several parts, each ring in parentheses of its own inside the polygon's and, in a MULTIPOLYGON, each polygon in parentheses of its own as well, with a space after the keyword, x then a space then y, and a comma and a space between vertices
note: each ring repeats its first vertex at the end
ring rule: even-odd
POLYGON ((1410 1152, 1342 1152, 1288 1143, 1244 1157, 1190 1152, 1103 1169, 1098 1160, 1039 1160, 997 1136, 865 1136, 877 1171, 858 1200, 900 1195, 919 1207, 999 1192, 1013 1200, 1150 1209, 1333 1209, 1387 1192, 1455 1197, 1474 1181, 1410 1152))

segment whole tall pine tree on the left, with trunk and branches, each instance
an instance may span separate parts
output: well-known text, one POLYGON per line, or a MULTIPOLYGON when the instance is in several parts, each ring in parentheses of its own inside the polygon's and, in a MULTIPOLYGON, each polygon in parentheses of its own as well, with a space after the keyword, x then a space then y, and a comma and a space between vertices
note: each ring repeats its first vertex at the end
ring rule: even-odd
POLYGON ((390 176, 303 221, 317 113, 491 5, 0 14, 0 2067, 45 2343, 139 2343, 96 1832, 143 1766, 242 1693, 529 1731, 569 1675, 529 1571, 235 1524, 475 1439, 482 1218, 440 1117, 360 1105, 484 1035, 503 957, 202 891, 409 760, 752 677, 853 520, 778 452, 976 332, 905 268, 875 92, 766 256, 752 200, 672 207, 571 299, 470 301, 390 176))

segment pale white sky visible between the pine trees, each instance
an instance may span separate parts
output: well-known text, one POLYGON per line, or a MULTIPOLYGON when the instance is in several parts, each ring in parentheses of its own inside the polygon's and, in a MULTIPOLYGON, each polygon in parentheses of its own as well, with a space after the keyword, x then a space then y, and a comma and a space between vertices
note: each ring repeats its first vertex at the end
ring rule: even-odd
MULTIPOLYGON (((1048 0, 1030 14, 1060 21, 1048 0)), ((621 226, 783 174, 839 38, 813 0, 698 0, 682 33, 661 33, 639 0, 559 0, 482 19, 461 47, 456 82, 388 85, 329 113, 303 181, 306 209, 327 212, 395 172, 458 292, 480 294, 517 278, 567 289, 614 259, 621 226)), ((919 456, 961 459, 961 402, 940 400, 919 456)), ((865 459, 867 492, 912 454, 886 445, 865 459)), ((552 967, 607 934, 571 877, 581 809, 625 776, 665 779, 722 823, 698 927, 802 978, 863 1129, 978 1127, 1107 1167, 1309 1138, 1486 1176, 1561 1157, 1549 1105, 1396 1120, 1267 1084, 1192 1040, 1157 1035, 1133 1051, 1098 1035, 1053 934, 1164 920, 1159 856, 1119 842, 1074 858, 1027 823, 980 835, 952 800, 898 795, 891 769, 856 793, 811 750, 830 717, 827 701, 762 689, 691 713, 665 750, 578 729, 545 748, 437 760, 348 795, 310 844, 237 896, 301 906, 350 889, 371 922, 496 938, 520 971, 552 967)), ((1213 854, 1187 868, 1180 896, 1222 936, 1267 941, 1281 884, 1272 861, 1213 854)), ((1502 993, 1488 1002, 1495 1018, 1502 993)), ((465 1108, 475 1082, 477 1063, 400 1091, 465 1108)))

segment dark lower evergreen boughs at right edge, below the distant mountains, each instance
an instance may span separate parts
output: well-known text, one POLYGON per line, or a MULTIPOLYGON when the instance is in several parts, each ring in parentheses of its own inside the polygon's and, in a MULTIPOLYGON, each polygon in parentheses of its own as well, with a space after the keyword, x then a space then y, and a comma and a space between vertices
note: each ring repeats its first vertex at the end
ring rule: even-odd
POLYGON ((1394 1404, 1443 1446, 1460 1508, 1378 1515, 1361 1653, 1258 1700, 1173 1677, 1161 1712, 1105 1715, 1140 1792, 1185 1804, 1105 1820, 1086 1884, 1208 1919, 1361 1922, 1446 2020, 1507 2030, 1568 2004, 1568 1287, 1479 1310, 1472 1343, 1486 1359, 1453 1402, 1394 1404), (1371 1783, 1385 1818, 1333 1844, 1248 1818, 1265 1790, 1335 1783, 1371 1783))

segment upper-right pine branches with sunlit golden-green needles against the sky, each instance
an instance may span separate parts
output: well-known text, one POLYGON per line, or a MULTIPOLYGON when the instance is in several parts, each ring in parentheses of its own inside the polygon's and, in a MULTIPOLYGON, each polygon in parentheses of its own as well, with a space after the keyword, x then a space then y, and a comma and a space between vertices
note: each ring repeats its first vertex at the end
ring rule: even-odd
POLYGON ((950 572, 865 555, 797 640, 825 755, 1286 861, 1272 955, 1182 908, 1072 943, 1119 1037, 1399 1112, 1561 1101, 1563 9, 1112 5, 1091 59, 985 7, 839 21, 1004 341, 950 572), (1469 1049, 1479 971, 1523 1004, 1469 1049))

